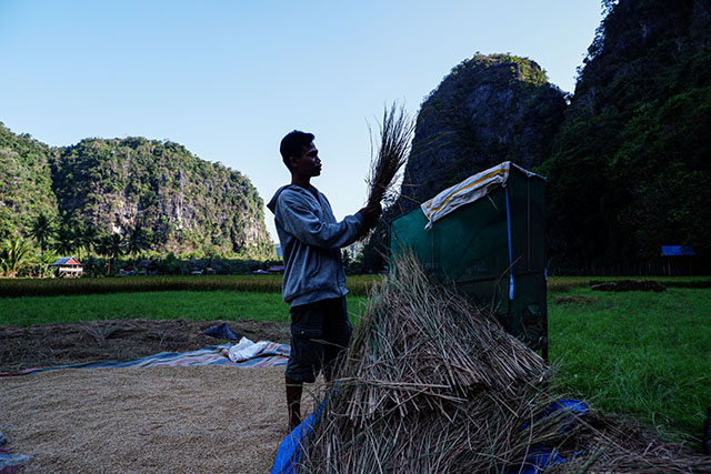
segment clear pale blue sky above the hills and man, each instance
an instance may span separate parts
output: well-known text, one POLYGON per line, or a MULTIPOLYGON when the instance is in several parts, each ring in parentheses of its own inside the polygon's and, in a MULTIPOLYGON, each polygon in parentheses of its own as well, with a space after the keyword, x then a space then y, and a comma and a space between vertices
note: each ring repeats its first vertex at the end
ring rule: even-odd
POLYGON ((266 202, 289 181, 279 141, 311 131, 313 184, 341 219, 365 200, 387 103, 414 115, 477 51, 528 57, 572 91, 601 19, 600 0, 0 0, 0 121, 50 145, 168 139, 266 202))

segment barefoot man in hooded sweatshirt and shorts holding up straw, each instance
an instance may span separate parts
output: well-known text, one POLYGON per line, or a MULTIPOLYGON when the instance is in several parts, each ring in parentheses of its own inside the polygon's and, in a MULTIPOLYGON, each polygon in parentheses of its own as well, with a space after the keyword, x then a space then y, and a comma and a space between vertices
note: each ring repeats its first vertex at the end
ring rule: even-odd
POLYGON ((279 151, 291 184, 280 188, 267 205, 281 242, 282 297, 291 315, 291 356, 284 373, 290 430, 301 423, 303 383, 313 383, 319 372, 332 380, 351 339, 340 249, 372 229, 381 213, 380 205, 369 206, 336 221, 329 201, 311 185, 311 178, 321 174, 313 138, 294 130, 282 139, 279 151))

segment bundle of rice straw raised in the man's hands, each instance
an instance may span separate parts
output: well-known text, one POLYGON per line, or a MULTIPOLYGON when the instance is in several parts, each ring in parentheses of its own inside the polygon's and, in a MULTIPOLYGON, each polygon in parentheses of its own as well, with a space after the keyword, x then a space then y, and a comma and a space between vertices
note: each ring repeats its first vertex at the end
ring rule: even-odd
POLYGON ((410 153, 414 122, 408 117, 404 107, 393 102, 383 111, 382 123, 379 124, 380 141, 377 152, 372 153, 371 163, 365 178, 368 183, 368 205, 374 205, 385 199, 397 181, 398 172, 404 165, 410 153))

